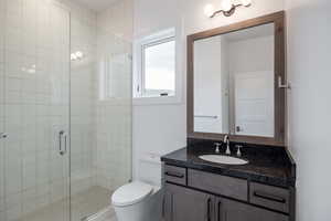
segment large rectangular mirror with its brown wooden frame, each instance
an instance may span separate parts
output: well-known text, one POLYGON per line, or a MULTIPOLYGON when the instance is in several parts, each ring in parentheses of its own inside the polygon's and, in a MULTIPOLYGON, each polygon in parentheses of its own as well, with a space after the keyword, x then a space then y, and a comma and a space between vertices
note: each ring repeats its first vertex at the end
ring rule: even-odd
POLYGON ((285 14, 188 36, 188 136, 285 145, 285 14))

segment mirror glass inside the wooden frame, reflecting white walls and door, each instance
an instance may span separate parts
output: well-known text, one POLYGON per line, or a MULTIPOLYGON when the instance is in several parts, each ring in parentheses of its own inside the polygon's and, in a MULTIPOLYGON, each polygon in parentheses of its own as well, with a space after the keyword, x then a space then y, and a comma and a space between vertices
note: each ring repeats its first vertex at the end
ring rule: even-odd
POLYGON ((274 30, 194 42, 194 131, 274 137, 274 30))

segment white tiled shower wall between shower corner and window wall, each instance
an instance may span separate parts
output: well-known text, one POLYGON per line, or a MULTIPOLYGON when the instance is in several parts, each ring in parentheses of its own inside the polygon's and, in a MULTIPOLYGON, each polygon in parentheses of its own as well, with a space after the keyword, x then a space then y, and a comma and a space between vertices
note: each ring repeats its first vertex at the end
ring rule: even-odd
MULTIPOLYGON (((97 76, 108 75, 108 97, 97 84, 97 183, 110 190, 131 179, 132 0, 97 14, 97 76), (108 72, 105 64, 108 62, 108 72)), ((104 77, 105 78, 105 77, 104 77)))

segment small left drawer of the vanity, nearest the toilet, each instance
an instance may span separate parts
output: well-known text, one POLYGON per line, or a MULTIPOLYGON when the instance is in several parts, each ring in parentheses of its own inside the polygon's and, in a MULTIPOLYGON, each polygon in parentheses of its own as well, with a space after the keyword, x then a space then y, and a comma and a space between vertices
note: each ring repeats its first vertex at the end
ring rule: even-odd
POLYGON ((164 179, 169 182, 186 186, 186 168, 166 165, 164 179))

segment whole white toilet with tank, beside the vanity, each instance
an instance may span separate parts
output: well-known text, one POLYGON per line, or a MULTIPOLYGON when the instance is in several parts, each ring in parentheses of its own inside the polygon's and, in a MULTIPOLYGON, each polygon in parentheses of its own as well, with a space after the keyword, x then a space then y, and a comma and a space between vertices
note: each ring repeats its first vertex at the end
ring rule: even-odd
POLYGON ((143 171, 139 179, 118 188, 111 196, 117 220, 161 221, 163 190, 160 156, 143 155, 139 159, 139 168, 143 171))

